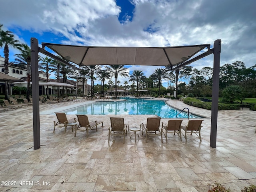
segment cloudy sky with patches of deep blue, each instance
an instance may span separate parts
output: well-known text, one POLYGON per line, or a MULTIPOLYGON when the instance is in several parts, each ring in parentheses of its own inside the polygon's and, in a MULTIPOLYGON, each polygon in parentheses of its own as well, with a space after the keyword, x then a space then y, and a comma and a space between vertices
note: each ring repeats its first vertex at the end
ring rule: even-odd
MULTIPOLYGON (((221 39, 221 65, 255 65, 255 0, 0 0, 0 5, 3 29, 28 45, 31 37, 39 44, 150 47, 213 45, 221 39)), ((10 61, 16 53, 10 49, 10 61)), ((213 55, 191 66, 213 67, 213 55)), ((148 77, 156 68, 129 71, 143 70, 148 77)))

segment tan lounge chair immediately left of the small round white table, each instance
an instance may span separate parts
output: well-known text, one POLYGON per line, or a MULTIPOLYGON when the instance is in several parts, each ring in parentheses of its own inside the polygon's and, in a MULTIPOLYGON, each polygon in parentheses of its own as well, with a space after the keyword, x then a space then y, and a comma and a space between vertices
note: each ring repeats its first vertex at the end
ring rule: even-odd
POLYGON ((128 124, 124 123, 124 118, 119 117, 110 117, 111 127, 108 128, 108 142, 110 140, 110 135, 112 136, 124 136, 125 141, 125 133, 127 135, 127 130, 129 128, 128 124))

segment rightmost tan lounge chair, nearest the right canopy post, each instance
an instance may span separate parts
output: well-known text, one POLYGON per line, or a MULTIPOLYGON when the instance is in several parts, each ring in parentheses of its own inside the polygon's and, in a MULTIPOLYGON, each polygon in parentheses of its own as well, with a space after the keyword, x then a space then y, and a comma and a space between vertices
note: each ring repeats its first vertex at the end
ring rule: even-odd
POLYGON ((196 136, 198 136, 198 138, 200 139, 200 141, 202 141, 201 139, 202 122, 203 120, 189 120, 188 125, 181 127, 185 131, 185 135, 183 133, 182 135, 185 137, 186 141, 187 141, 187 133, 190 133, 190 135, 192 135, 192 133, 195 133, 196 136))

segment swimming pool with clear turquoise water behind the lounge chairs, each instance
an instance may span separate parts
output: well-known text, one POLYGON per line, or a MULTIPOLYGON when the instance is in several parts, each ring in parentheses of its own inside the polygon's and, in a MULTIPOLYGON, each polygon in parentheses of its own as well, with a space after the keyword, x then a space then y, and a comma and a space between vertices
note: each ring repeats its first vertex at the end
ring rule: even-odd
MULTIPOLYGON (((67 115, 157 115, 162 118, 176 118, 180 112, 170 107, 164 100, 147 100, 125 97, 125 101, 96 101, 75 108, 64 110, 67 115)), ((177 118, 188 118, 180 113, 177 118)), ((189 118, 198 118, 190 115, 189 118)))

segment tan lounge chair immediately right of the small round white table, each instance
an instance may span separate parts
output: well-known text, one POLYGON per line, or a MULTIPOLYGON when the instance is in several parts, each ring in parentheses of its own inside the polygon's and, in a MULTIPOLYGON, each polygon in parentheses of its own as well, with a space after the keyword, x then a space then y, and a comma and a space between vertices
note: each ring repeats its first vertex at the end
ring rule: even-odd
POLYGON ((160 136, 162 137, 162 131, 160 131, 160 117, 149 117, 147 119, 147 123, 140 124, 140 128, 142 128, 142 135, 146 133, 146 143, 148 142, 148 136, 160 136), (158 133, 156 133, 158 132, 158 133))

